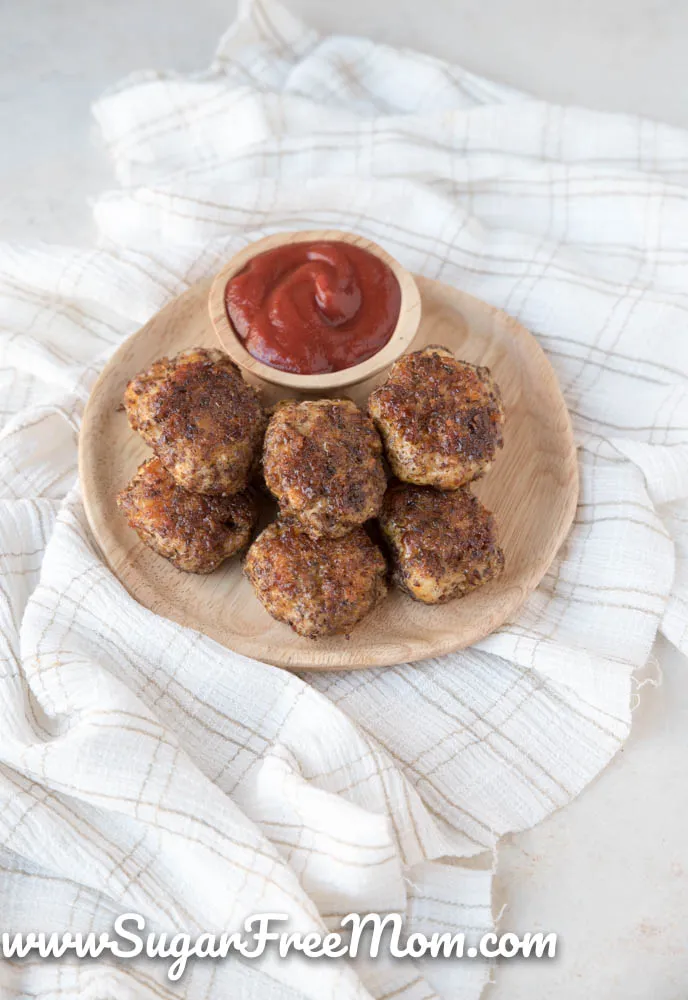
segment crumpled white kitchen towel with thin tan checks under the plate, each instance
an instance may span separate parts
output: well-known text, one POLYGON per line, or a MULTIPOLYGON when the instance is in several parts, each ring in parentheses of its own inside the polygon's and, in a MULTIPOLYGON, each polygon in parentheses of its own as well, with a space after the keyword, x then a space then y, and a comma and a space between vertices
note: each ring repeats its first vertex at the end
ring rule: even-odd
MULTIPOLYGON (((99 248, 0 246, 0 931, 354 910, 480 934, 484 852, 616 753, 658 630, 688 652, 688 134, 322 38, 274 0, 208 72, 137 74, 95 116, 120 182, 99 248), (90 536, 77 439, 105 359, 239 247, 313 226, 506 309, 558 373, 575 524, 471 650, 290 675, 139 607, 90 536)), ((33 957, 0 960, 0 995, 474 1000, 487 975, 268 954, 175 986, 164 963, 33 957)))

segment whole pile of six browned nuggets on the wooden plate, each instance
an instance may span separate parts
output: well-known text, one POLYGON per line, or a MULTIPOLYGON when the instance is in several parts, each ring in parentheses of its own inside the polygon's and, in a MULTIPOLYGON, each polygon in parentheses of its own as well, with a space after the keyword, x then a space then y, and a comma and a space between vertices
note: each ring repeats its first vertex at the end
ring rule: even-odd
POLYGON ((375 518, 392 579, 415 600, 444 603, 502 571, 492 515, 468 487, 502 446, 499 389, 487 368, 446 348, 397 361, 368 415, 349 399, 283 400, 268 422, 229 357, 201 348, 137 375, 125 408, 155 455, 118 505, 187 572, 210 573, 249 544, 262 444, 279 515, 251 545, 245 573, 299 635, 347 633, 385 597, 387 562, 365 527, 375 518))

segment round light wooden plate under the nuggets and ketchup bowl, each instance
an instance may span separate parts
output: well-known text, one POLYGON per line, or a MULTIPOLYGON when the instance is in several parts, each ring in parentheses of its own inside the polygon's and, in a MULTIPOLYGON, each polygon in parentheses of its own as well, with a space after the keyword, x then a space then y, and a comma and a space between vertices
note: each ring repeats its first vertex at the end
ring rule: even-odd
MULTIPOLYGON (((475 485, 495 514, 506 557, 501 579, 437 607, 391 590, 350 636, 312 641, 268 615, 239 559, 196 576, 146 548, 115 505, 118 491, 150 454, 129 428, 122 395, 129 379, 157 358, 217 346, 208 316, 210 281, 203 281, 122 345, 96 382, 84 414, 79 470, 86 513, 106 561, 137 601, 245 656, 304 670, 352 670, 439 656, 469 646, 515 616, 547 571, 576 509, 578 466, 566 404, 537 341, 514 319, 455 288, 417 281, 422 320, 412 349, 444 344, 459 358, 488 365, 504 397, 504 449, 475 485)), ((349 386, 346 394, 365 407, 384 378, 382 372, 349 386)), ((298 395, 266 385, 263 394, 267 404, 298 395)))

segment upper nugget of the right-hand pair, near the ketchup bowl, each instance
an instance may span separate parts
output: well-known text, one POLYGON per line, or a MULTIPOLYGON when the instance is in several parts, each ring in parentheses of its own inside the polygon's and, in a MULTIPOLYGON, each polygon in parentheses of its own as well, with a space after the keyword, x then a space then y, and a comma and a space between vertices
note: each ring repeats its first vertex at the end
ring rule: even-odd
POLYGON ((407 483, 456 490, 484 475, 502 447, 504 409, 489 368, 446 347, 406 354, 368 401, 392 471, 407 483))

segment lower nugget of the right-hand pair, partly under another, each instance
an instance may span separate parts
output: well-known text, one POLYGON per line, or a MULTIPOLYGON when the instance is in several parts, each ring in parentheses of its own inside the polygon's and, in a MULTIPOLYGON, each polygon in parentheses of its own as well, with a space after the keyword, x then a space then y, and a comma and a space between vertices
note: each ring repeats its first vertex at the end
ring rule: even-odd
POLYGON ((394 583, 424 604, 463 597, 504 569, 494 518, 469 489, 440 493, 396 483, 385 494, 380 525, 394 583))

